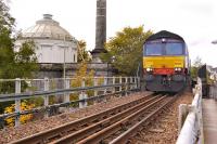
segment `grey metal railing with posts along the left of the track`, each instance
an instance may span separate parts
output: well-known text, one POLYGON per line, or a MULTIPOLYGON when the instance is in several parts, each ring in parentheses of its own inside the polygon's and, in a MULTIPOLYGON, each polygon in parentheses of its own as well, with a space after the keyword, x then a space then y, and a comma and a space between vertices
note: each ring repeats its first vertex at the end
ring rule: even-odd
MULTIPOLYGON (((102 78, 102 77, 100 77, 102 78)), ((0 94, 0 102, 8 102, 8 101, 14 101, 15 102, 15 112, 10 114, 1 114, 0 115, 0 122, 1 120, 9 118, 9 117, 15 117, 15 126, 20 125, 20 116, 26 115, 30 113, 37 113, 37 112, 44 112, 44 116, 48 117, 48 112, 51 108, 54 107, 65 107, 73 103, 79 103, 79 107, 86 107, 88 101, 94 101, 101 97, 104 97, 106 95, 111 94, 117 94, 117 93, 126 93, 128 91, 135 91, 139 89, 139 78, 138 77, 104 77, 104 82, 98 84, 99 77, 93 77, 93 86, 87 87, 86 86, 86 78, 82 78, 81 86, 77 88, 71 88, 71 81, 74 78, 66 78, 66 79, 60 79, 63 80, 62 84, 64 86, 64 89, 55 89, 55 90, 49 90, 49 81, 52 81, 54 79, 0 79, 0 82, 4 81, 14 81, 15 83, 15 93, 11 94, 0 94), (108 79, 112 78, 110 81, 108 79), (118 79, 116 81, 116 79, 118 79), (124 79, 124 81, 123 81, 124 79), (21 81, 38 81, 42 80, 43 90, 40 91, 30 91, 30 92, 23 92, 21 93, 21 81), (116 88, 118 88, 116 90, 116 88), (124 88, 124 89, 123 89, 124 88), (93 90, 93 95, 87 95, 86 91, 93 90), (103 93, 98 93, 99 91, 103 91, 103 93), (110 92, 108 92, 110 91, 110 92), (71 93, 77 93, 78 92, 78 99, 76 101, 69 101, 69 94, 71 93), (61 95, 64 96, 63 103, 58 103, 53 105, 49 105, 49 96, 50 95, 61 95), (21 110, 21 101, 25 99, 30 97, 37 97, 42 96, 43 97, 43 106, 42 107, 36 107, 29 110, 21 110)))

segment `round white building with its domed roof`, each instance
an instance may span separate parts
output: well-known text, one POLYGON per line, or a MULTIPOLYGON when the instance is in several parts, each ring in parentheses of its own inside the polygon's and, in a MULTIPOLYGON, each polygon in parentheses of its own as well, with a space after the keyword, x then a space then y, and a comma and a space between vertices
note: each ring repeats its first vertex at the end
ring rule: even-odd
POLYGON ((22 31, 15 51, 26 40, 34 40, 39 64, 77 63, 77 40, 59 22, 52 19, 51 14, 43 14, 43 18, 37 21, 36 25, 22 31))

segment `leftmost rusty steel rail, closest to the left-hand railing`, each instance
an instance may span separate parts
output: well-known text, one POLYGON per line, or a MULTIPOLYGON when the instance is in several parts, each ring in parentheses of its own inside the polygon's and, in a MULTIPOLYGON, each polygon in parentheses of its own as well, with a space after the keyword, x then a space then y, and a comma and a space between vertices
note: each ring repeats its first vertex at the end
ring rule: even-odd
POLYGON ((124 105, 118 105, 115 106, 113 108, 103 110, 101 113, 62 125, 58 128, 53 128, 40 133, 36 133, 34 135, 21 139, 18 141, 14 141, 12 142, 12 144, 23 144, 23 143, 28 143, 28 144, 36 144, 36 143, 48 143, 49 141, 55 139, 55 138, 61 138, 64 134, 71 133, 73 131, 78 130, 78 127, 82 127, 86 126, 87 123, 92 123, 92 122, 98 122, 99 120, 102 120, 106 117, 113 116, 117 113, 122 113, 123 110, 125 110, 126 108, 130 108, 139 103, 142 103, 143 101, 149 100, 149 97, 153 95, 153 94, 149 94, 143 96, 142 99, 132 101, 132 102, 128 102, 124 105))

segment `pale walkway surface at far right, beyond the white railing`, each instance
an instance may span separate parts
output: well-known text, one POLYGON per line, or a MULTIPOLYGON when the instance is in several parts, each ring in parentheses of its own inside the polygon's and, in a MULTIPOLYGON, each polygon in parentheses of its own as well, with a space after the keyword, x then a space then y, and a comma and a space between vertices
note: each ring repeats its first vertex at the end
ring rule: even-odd
POLYGON ((203 99, 202 105, 205 144, 217 144, 217 101, 203 99))

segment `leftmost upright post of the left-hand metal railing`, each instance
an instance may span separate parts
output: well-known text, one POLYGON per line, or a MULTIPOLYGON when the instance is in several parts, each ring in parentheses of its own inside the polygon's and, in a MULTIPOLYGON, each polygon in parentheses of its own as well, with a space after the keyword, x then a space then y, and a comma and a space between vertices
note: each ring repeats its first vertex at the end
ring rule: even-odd
MULTIPOLYGON (((21 79, 15 79, 15 93, 21 93, 21 79)), ((20 112, 21 112, 21 99, 15 99, 15 113, 18 113, 18 115, 15 117, 15 127, 20 126, 20 112)))

